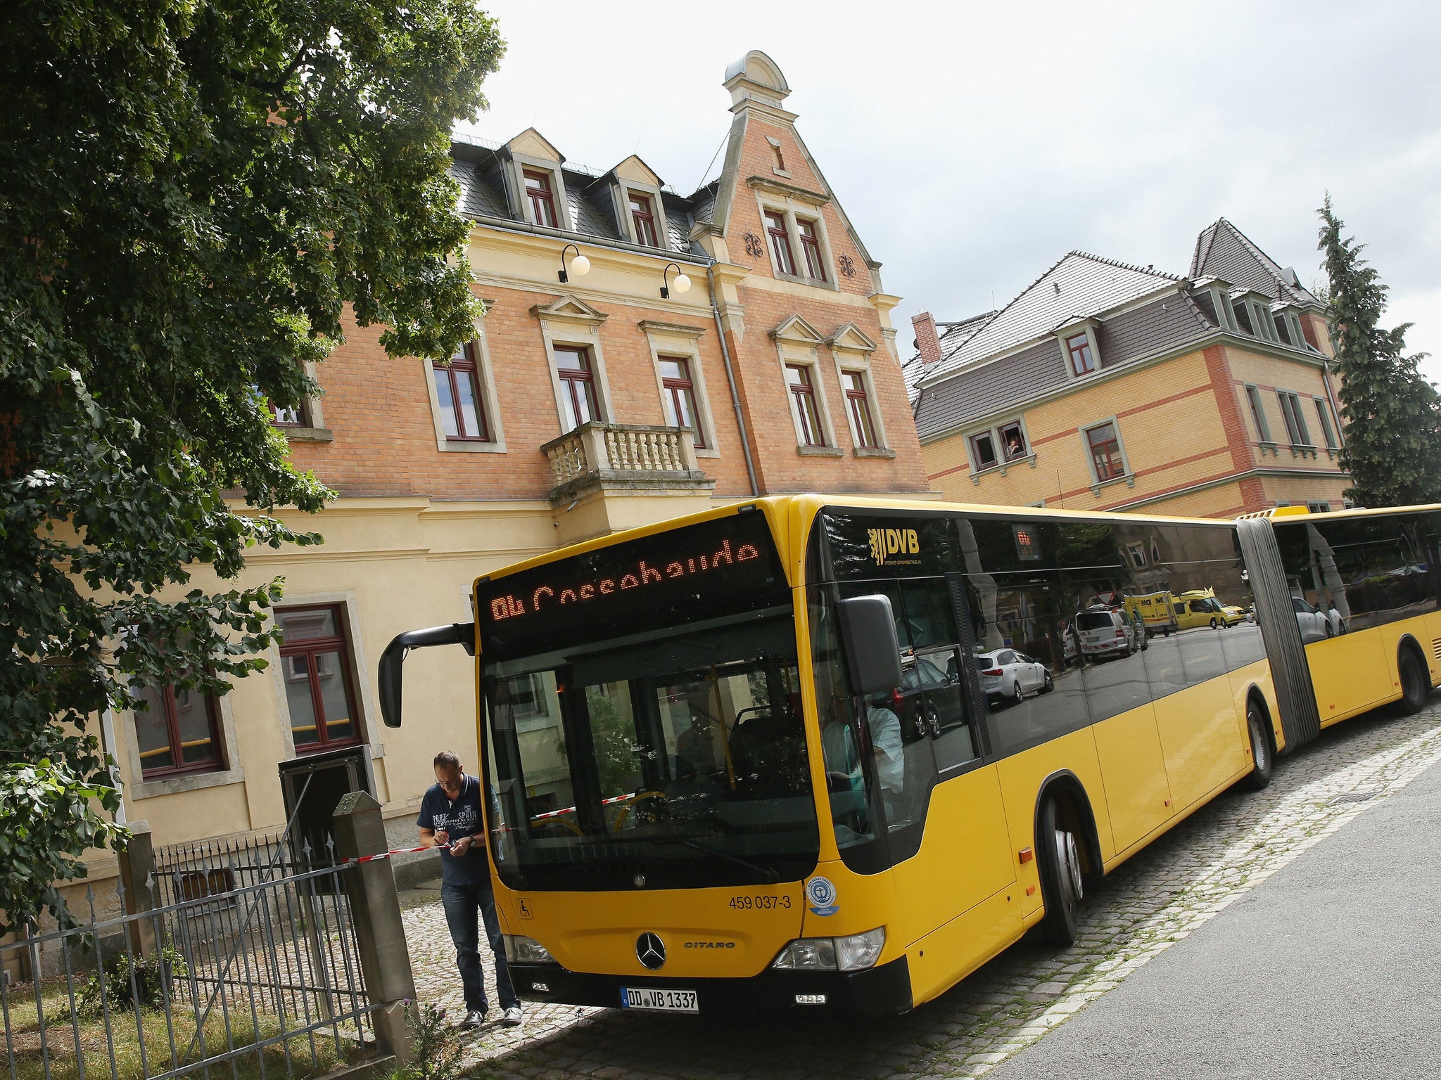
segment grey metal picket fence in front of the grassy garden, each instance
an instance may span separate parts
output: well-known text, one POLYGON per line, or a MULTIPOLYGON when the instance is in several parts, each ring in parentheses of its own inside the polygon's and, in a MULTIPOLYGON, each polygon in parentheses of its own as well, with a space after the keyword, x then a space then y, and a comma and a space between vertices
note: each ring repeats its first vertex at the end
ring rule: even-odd
POLYGON ((264 858, 246 841, 159 861, 151 910, 98 917, 86 888, 79 924, 0 943, 9 1080, 268 1080, 353 1060, 370 1034, 354 867, 271 841, 264 858))

